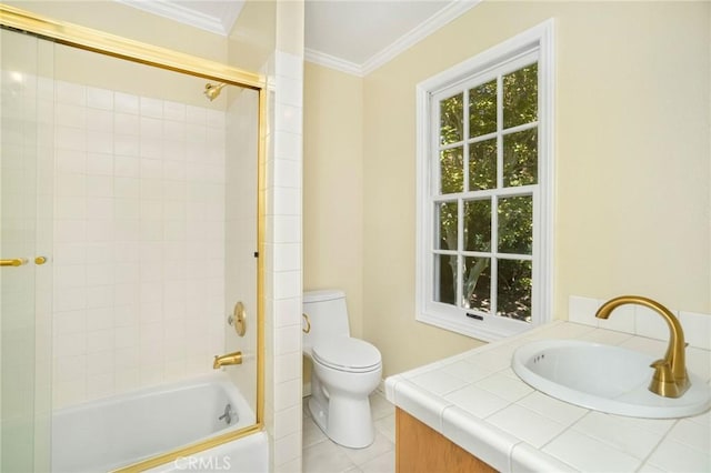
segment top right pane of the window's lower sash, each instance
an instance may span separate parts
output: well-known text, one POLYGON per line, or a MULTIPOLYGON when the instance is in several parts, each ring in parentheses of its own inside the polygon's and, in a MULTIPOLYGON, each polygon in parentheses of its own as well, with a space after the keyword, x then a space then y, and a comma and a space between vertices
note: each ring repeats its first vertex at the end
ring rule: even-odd
POLYGON ((499 252, 531 254, 533 248, 533 198, 499 199, 499 252))

